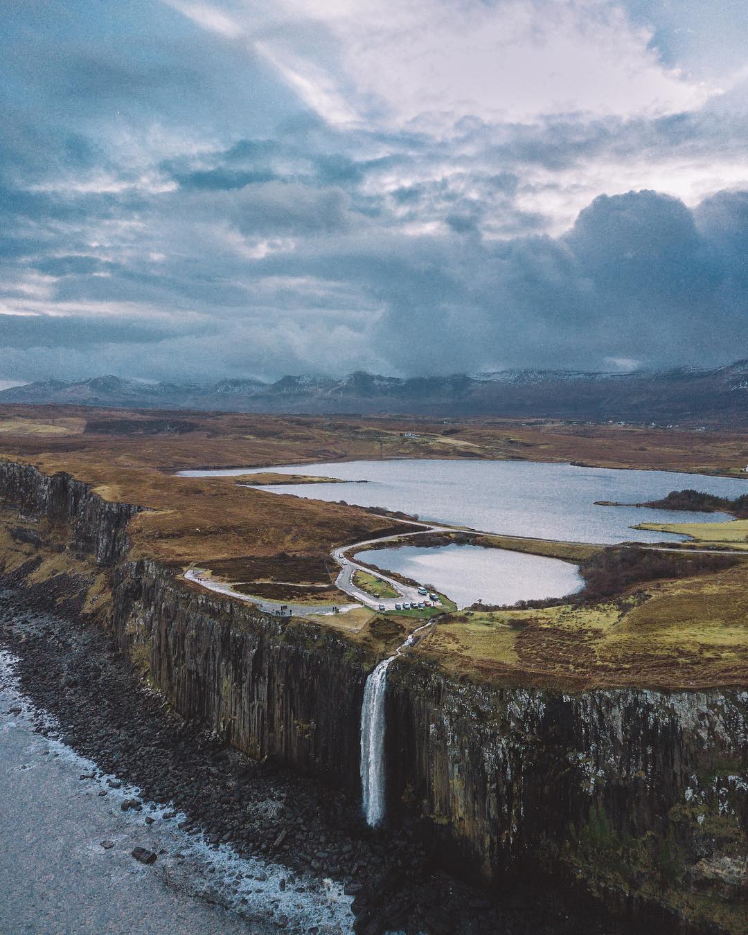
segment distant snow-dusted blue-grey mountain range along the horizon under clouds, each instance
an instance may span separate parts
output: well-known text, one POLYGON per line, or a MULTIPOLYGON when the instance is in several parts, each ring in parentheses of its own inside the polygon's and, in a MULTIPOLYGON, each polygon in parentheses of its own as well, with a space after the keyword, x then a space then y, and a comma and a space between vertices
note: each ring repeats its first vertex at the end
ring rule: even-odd
POLYGON ((120 377, 42 381, 0 392, 0 403, 269 413, 514 416, 657 424, 748 423, 748 360, 726 367, 584 373, 500 370, 468 376, 287 376, 265 383, 147 383, 120 377))

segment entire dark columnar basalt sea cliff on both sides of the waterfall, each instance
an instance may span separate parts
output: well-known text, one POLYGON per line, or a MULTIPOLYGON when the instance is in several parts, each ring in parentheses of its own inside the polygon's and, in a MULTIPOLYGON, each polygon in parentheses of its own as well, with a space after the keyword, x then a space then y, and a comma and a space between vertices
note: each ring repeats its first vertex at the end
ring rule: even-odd
MULTIPOLYGON (((100 623, 176 711, 357 793, 375 660, 128 560, 137 507, 68 475, 0 462, 0 507, 17 582, 40 555, 91 557, 100 623)), ((748 931, 748 692, 468 683, 415 653, 390 668, 385 711, 390 820, 417 819, 444 864, 499 889, 512 873, 561 875, 637 931, 748 931)))

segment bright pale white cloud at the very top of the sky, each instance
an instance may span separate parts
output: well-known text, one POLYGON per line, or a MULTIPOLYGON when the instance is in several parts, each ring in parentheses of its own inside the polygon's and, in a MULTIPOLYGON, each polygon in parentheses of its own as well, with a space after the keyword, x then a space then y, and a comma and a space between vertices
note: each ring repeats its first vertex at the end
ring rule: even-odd
MULTIPOLYGON (((376 102, 391 124, 445 132, 466 115, 669 113, 712 94, 660 65, 651 35, 601 0, 286 0, 285 7, 336 37, 348 105, 368 105, 371 115, 376 102)), ((288 39, 266 40, 266 54, 277 54, 281 42, 288 39)), ((305 54, 298 41, 295 52, 305 54)), ((313 54, 306 50, 309 62, 313 54)), ((313 96, 305 99, 315 107, 313 96)))

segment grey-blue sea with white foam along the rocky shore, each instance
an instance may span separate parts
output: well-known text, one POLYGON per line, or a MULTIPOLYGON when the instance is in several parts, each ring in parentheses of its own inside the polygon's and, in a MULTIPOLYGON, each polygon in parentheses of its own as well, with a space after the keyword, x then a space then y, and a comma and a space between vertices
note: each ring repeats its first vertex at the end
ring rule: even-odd
POLYGON ((297 892, 281 866, 210 847, 180 830, 181 813, 163 820, 168 806, 146 800, 144 813, 122 812, 137 788, 110 788, 112 777, 55 740, 55 728, 22 695, 14 657, 0 649, 0 932, 352 933, 341 886, 304 879, 297 892), (50 736, 36 732, 40 718, 50 736), (131 856, 136 846, 159 854, 151 867, 131 856))

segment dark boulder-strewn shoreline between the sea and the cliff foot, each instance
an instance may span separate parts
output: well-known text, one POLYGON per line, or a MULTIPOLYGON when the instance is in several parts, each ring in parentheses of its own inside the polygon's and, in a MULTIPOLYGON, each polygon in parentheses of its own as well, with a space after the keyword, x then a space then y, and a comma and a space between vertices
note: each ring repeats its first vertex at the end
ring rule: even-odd
MULTIPOLYGON (((19 659, 23 693, 55 716, 65 744, 139 787, 128 809, 141 809, 146 799, 170 805, 186 815, 184 831, 206 833, 213 847, 228 844, 240 856, 272 859, 309 881, 338 881, 352 897, 352 927, 366 935, 625 929, 589 905, 574 911, 565 890, 545 879, 508 881, 491 898, 454 879, 437 868, 433 842, 419 822, 372 832, 357 798, 271 759, 252 761, 196 719, 182 720, 105 632, 72 606, 64 615, 51 613, 49 599, 41 585, 3 591, 0 643, 19 659)), ((149 818, 146 813, 144 822, 149 818)), ((165 812, 156 820, 174 816, 165 812)))

